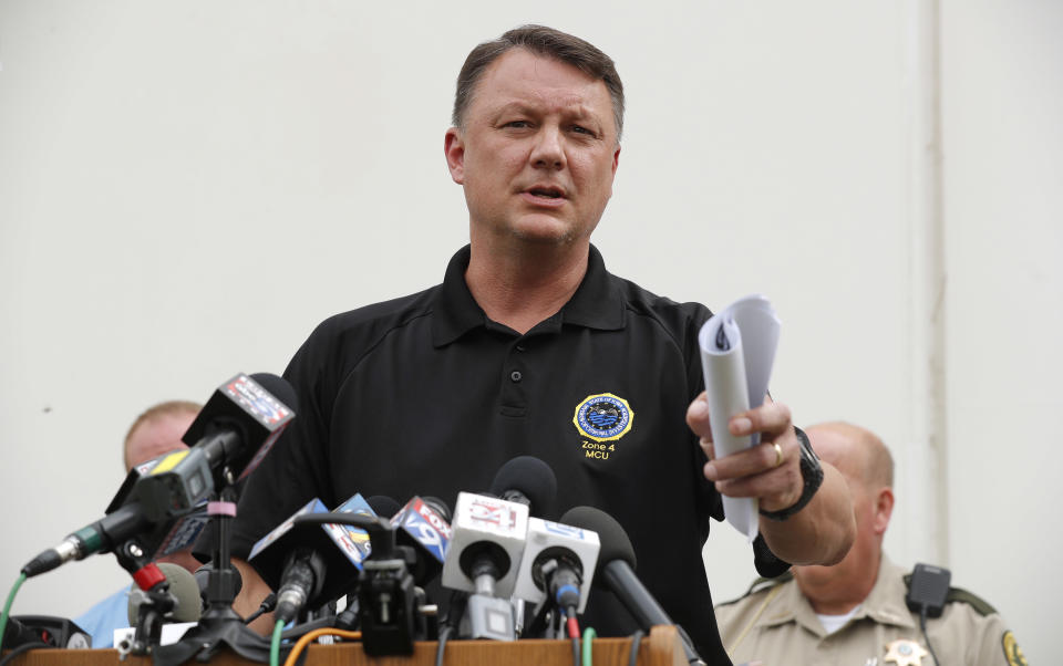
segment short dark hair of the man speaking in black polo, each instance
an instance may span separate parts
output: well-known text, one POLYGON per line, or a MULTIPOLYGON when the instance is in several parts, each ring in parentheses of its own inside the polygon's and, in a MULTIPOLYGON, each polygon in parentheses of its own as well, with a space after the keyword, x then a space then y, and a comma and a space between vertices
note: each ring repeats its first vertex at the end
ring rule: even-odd
POLYGON ((568 63, 588 76, 603 82, 612 100, 617 141, 620 141, 623 131, 623 84, 620 83, 620 75, 617 74, 612 59, 590 42, 545 25, 514 28, 497 40, 484 42, 469 52, 457 75, 454 113, 451 118, 455 127, 464 128, 465 112, 472 104, 476 83, 484 71, 502 54, 518 48, 568 63))

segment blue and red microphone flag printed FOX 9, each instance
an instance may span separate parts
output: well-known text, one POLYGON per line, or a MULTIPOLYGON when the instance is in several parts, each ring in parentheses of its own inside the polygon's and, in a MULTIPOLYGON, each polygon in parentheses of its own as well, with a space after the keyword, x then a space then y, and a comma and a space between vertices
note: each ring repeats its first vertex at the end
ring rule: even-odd
POLYGON ((413 547, 416 560, 411 573, 422 587, 440 575, 451 544, 451 510, 434 497, 414 497, 396 512, 395 543, 413 547))

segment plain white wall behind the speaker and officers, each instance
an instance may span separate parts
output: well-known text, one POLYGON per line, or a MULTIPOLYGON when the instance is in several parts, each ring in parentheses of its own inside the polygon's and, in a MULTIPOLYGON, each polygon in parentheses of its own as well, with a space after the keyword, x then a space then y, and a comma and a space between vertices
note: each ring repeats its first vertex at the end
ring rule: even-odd
MULTIPOLYGON (((775 395, 894 449, 892 558, 952 568, 1060 660, 1063 4, 933 8, 0 0, 0 589, 100 517, 144 407, 279 373, 324 316, 442 278, 467 237, 454 77, 541 22, 628 92, 609 268, 767 294, 775 395)), ((705 556, 718 600, 754 576, 729 528, 705 556)), ((126 580, 93 558, 13 612, 126 580)))

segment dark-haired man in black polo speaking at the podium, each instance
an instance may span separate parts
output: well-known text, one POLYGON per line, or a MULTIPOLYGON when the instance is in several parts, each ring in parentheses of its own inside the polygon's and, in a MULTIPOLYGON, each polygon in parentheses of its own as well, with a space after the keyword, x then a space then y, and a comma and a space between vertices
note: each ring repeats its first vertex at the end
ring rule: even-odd
MULTIPOLYGON (((701 548, 709 519, 723 518, 721 492, 771 514, 762 573, 786 568, 772 552, 794 563, 845 554, 845 482, 803 449, 786 407, 733 416, 732 433, 764 444, 708 461, 696 333, 709 311, 610 275, 590 244, 622 118, 612 61, 582 40, 525 27, 469 54, 445 156, 471 243, 442 285, 333 316, 298 351, 286 376, 299 416, 245 490, 236 554, 312 497, 453 506, 533 455, 557 475, 560 510, 596 506, 623 525, 640 577, 711 663, 726 656, 701 548)), ((244 569, 246 614, 266 590, 244 569)), ((597 605, 599 633, 630 628, 622 610, 597 605)))

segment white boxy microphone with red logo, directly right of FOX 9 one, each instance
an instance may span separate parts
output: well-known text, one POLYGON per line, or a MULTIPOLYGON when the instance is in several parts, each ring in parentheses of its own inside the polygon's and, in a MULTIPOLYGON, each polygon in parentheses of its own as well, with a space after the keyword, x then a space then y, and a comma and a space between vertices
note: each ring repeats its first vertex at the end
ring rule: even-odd
POLYGON ((460 492, 452 527, 450 552, 443 563, 443 586, 473 593, 462 621, 463 634, 473 638, 516 639, 508 597, 513 594, 528 531, 528 507, 460 492))

